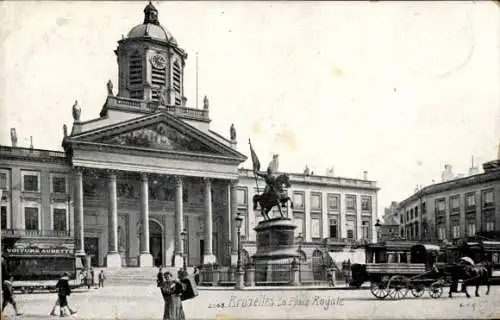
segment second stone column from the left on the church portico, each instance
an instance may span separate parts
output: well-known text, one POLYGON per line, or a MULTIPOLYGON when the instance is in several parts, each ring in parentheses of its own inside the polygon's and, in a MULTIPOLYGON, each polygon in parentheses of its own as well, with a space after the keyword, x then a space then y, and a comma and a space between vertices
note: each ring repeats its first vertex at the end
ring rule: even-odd
POLYGON ((108 255, 106 266, 118 268, 122 259, 118 253, 118 206, 116 201, 116 173, 109 172, 108 177, 108 255))

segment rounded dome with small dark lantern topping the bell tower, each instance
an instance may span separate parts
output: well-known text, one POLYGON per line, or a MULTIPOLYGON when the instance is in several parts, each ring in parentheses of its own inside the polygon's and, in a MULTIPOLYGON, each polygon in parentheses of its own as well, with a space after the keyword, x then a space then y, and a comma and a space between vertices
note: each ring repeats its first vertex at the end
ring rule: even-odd
POLYGON ((127 37, 130 38, 151 38, 177 45, 174 36, 158 21, 158 10, 149 2, 144 8, 144 23, 133 27, 127 37))

